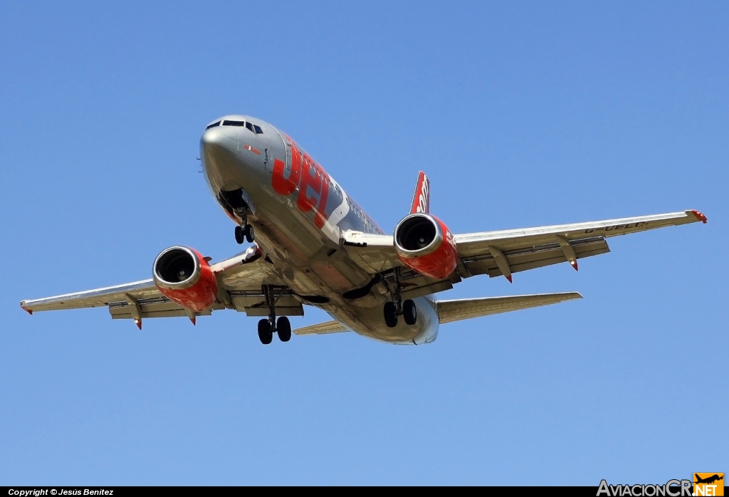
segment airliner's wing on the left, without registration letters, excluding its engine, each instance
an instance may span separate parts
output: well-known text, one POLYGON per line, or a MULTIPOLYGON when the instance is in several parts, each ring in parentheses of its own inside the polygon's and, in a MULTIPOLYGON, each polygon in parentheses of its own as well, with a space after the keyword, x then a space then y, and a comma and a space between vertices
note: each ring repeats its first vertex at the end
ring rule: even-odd
MULTIPOLYGON (((108 307, 112 318, 142 318, 207 316, 212 310, 225 308, 245 312, 249 316, 268 316, 262 285, 284 285, 253 246, 242 254, 211 265, 218 278, 218 298, 203 313, 191 313, 165 297, 152 279, 117 286, 79 291, 36 300, 23 300, 20 307, 28 313, 43 310, 63 310, 108 307)), ((284 291, 276 302, 278 316, 303 316, 303 307, 290 291, 284 291)))

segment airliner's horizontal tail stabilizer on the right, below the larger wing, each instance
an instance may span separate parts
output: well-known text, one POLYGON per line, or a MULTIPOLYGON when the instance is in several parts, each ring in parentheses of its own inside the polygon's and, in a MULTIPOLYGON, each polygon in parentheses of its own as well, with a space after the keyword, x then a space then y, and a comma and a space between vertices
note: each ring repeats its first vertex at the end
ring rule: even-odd
POLYGON ((513 295, 511 297, 484 297, 480 299, 440 300, 437 302, 440 324, 461 319, 508 313, 512 310, 536 308, 540 305, 558 304, 565 300, 581 299, 577 291, 556 294, 513 295))

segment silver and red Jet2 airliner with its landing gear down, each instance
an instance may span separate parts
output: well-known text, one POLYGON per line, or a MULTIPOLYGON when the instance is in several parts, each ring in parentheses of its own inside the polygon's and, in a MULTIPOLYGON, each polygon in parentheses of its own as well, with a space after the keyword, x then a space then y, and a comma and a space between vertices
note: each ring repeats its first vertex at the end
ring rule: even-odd
POLYGON ((706 223, 699 211, 454 235, 430 214, 421 171, 409 213, 386 234, 292 138, 268 122, 231 114, 200 138, 203 172, 235 223, 241 253, 211 264, 186 246, 163 250, 152 278, 37 300, 21 308, 107 307, 112 318, 199 316, 232 309, 259 316, 258 337, 287 342, 288 316, 304 305, 333 318, 297 335, 354 331, 384 343, 432 343, 440 324, 580 299, 577 292, 437 300, 464 278, 512 275, 609 252, 607 238, 666 226, 706 223))

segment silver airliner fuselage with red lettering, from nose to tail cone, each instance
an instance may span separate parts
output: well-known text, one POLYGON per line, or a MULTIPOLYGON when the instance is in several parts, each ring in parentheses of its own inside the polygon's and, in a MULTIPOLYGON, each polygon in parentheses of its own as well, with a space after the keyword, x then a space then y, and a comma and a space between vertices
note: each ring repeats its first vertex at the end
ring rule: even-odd
POLYGON ((220 124, 207 128, 200 140, 208 185, 236 224, 243 222, 246 212, 255 243, 295 294, 375 340, 402 345, 435 340, 438 316, 432 296, 413 299, 418 310, 415 325, 401 319, 394 328, 383 318, 383 305, 391 299, 383 283, 364 297, 343 297, 366 286, 373 276, 349 259, 341 245, 342 232, 383 231, 319 163, 267 122, 242 115, 211 124, 215 122, 220 124), (226 121, 251 125, 223 125, 226 121), (236 205, 241 197, 247 208, 236 205), (311 302, 317 297, 328 302, 311 302))

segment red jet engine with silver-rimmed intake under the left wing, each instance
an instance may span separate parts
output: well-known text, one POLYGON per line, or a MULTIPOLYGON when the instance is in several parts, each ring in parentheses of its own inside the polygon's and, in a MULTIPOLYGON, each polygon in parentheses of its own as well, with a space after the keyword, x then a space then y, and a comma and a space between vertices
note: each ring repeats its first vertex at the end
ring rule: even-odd
POLYGON ((197 313, 217 298, 217 278, 208 262, 192 248, 163 250, 152 266, 152 278, 165 297, 197 313))

